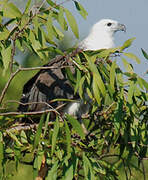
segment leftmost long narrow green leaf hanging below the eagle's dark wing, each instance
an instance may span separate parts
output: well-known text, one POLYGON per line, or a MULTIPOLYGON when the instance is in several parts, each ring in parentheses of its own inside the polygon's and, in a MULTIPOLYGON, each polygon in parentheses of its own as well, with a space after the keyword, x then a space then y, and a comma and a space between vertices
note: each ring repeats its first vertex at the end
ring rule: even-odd
POLYGON ((37 128, 37 132, 36 132, 36 135, 35 135, 35 140, 34 140, 34 149, 38 146, 40 140, 41 140, 41 134, 42 134, 42 127, 43 127, 43 124, 44 124, 44 118, 45 118, 45 114, 43 114, 41 116, 41 119, 40 119, 40 122, 39 122, 39 125, 38 125, 38 128, 37 128))

